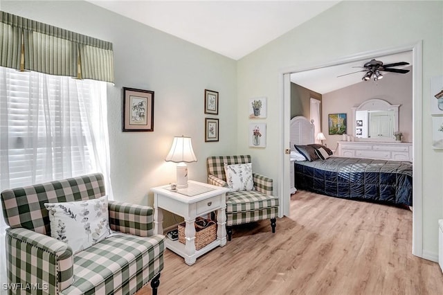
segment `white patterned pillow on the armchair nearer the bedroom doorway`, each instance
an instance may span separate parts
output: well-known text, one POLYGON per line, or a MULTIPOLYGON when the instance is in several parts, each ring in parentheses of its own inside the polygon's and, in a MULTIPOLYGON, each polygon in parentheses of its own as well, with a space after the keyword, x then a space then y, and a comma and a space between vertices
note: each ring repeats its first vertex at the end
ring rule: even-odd
POLYGON ((224 172, 230 192, 253 190, 252 163, 233 165, 224 163, 224 172))

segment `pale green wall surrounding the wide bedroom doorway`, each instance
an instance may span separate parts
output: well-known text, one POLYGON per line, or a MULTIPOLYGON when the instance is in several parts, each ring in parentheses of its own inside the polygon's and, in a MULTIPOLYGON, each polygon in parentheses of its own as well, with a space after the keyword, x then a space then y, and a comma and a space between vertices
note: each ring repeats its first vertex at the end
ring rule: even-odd
MULTIPOLYGON (((437 257, 437 220, 443 217, 443 154, 431 147, 430 81, 443 73, 442 1, 343 1, 239 60, 238 150, 250 152, 260 169, 278 179, 280 159, 279 73, 326 64, 358 53, 415 44, 423 40, 423 249, 437 257), (386 17, 388 16, 388 17, 386 17), (268 146, 248 148, 247 100, 268 97, 268 146)), ((323 115, 324 116, 324 115, 323 115)), ((289 172, 288 172, 289 173, 289 172)))

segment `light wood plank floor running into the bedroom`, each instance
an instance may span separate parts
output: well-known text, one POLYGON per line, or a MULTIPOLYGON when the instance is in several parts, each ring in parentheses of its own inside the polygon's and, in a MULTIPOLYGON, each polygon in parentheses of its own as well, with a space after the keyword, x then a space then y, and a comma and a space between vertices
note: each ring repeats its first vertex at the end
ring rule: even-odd
POLYGON ((443 294, 411 240, 408 210, 298 191, 275 234, 268 221, 236 227, 192 266, 166 250, 159 294, 443 294))

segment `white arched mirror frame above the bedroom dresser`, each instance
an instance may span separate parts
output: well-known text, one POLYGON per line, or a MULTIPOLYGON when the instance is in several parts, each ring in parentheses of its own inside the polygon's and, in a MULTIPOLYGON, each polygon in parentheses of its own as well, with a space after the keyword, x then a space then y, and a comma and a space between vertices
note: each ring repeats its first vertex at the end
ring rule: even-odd
POLYGON ((399 130, 399 107, 401 105, 391 105, 386 100, 372 98, 366 100, 359 107, 352 107, 352 136, 355 141, 384 141, 395 142, 395 138, 362 138, 356 137, 356 111, 394 111, 394 132, 399 130))

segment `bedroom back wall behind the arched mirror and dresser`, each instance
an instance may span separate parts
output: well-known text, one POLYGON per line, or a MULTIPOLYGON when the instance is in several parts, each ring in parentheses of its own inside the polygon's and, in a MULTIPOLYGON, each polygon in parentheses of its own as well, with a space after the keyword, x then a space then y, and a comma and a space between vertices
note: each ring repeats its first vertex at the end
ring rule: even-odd
MULTIPOLYGON (((412 54, 412 53, 411 53, 412 54)), ((341 135, 329 135, 328 114, 347 114, 347 134, 352 134, 352 107, 359 107, 362 102, 373 98, 386 100, 399 107, 399 131, 403 133, 404 142, 413 141, 413 73, 389 74, 379 81, 361 81, 349 87, 323 94, 323 134, 329 147, 335 149, 341 135)), ((356 79, 360 80, 359 74, 356 79)), ((394 130, 397 131, 397 130, 394 130)))

